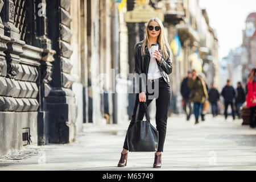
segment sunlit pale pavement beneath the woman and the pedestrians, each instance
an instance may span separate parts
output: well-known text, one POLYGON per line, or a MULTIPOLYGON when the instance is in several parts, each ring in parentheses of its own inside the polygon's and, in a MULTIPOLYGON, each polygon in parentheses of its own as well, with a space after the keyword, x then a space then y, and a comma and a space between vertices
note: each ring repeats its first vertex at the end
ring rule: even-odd
POLYGON ((160 169, 152 168, 154 152, 129 152, 127 166, 116 167, 127 122, 85 130, 72 144, 28 146, 0 159, 0 170, 255 170, 256 129, 242 126, 242 119, 205 118, 198 125, 193 117, 168 118, 160 169))

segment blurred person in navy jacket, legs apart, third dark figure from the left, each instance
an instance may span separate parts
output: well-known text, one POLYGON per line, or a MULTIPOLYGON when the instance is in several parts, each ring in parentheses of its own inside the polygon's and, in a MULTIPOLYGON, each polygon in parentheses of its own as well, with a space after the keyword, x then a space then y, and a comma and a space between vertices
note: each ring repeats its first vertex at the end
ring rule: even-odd
POLYGON ((233 100, 236 97, 236 91, 234 90, 233 86, 231 85, 231 82, 230 82, 229 79, 226 81, 226 86, 224 86, 224 88, 222 89, 221 96, 224 98, 224 104, 225 104, 224 114, 225 114, 225 119, 228 118, 227 110, 228 110, 228 106, 229 105, 231 106, 231 109, 232 109, 233 119, 235 119, 233 100))

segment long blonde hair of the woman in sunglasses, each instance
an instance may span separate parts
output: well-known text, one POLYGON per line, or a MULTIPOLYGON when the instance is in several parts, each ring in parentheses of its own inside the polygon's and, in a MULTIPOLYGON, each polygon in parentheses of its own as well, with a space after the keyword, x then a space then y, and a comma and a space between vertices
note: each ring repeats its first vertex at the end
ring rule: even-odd
POLYGON ((171 50, 171 47, 170 45, 168 44, 168 41, 166 40, 166 36, 164 35, 164 26, 163 26, 163 23, 162 21, 159 19, 159 18, 151 18, 150 20, 148 20, 147 22, 147 26, 146 26, 146 29, 145 29, 145 33, 146 33, 146 38, 143 40, 143 43, 142 43, 142 57, 145 55, 145 47, 148 43, 148 40, 149 40, 149 34, 148 34, 148 26, 150 24, 150 22, 157 22, 160 26, 160 34, 158 35, 158 42, 159 42, 159 46, 160 46, 160 53, 163 53, 163 59, 166 60, 168 58, 168 53, 167 51, 170 52, 170 58, 172 59, 172 50, 171 50))

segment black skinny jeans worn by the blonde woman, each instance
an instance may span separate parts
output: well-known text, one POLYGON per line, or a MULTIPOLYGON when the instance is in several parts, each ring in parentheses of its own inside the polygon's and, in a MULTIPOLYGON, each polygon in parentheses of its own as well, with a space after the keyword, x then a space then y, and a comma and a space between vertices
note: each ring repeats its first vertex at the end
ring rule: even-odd
MULTIPOLYGON (((150 81, 148 81, 148 84, 150 84, 150 88, 154 89, 155 82, 151 83, 150 81)), ((168 114, 168 109, 171 101, 171 87, 170 87, 170 84, 167 84, 167 82, 163 80, 163 78, 160 78, 160 80, 158 81, 158 84, 159 84, 159 94, 158 94, 158 97, 157 96, 154 97, 156 99, 155 121, 156 121, 156 130, 158 130, 158 134, 159 134, 158 152, 162 152, 163 146, 164 146, 164 140, 166 138, 166 126, 167 126, 167 118, 168 118, 167 114, 168 114)), ((152 100, 154 99, 154 98, 148 99, 149 95, 151 96, 154 95, 154 92, 148 93, 148 88, 147 88, 147 91, 146 91, 147 106, 149 106, 152 100)), ((139 103, 139 93, 137 93, 135 98, 133 115, 131 117, 131 122, 128 129, 134 125, 138 103, 139 103)), ((144 109, 144 106, 141 104, 139 107, 138 120, 143 119, 145 112, 146 111, 144 109)), ((125 148, 126 150, 129 150, 127 146, 127 135, 125 137, 123 148, 125 148)))

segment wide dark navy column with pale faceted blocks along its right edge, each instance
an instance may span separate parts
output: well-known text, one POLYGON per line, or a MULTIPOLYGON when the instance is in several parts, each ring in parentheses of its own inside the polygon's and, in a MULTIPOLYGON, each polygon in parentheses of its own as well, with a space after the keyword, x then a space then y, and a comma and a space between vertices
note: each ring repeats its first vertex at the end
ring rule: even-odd
POLYGON ((51 90, 46 97, 49 112, 49 143, 69 143, 76 139, 75 121, 77 106, 70 89, 73 78, 70 75, 72 47, 69 42, 72 21, 69 11, 70 0, 46 1, 48 18, 47 35, 56 51, 52 68, 51 90))

